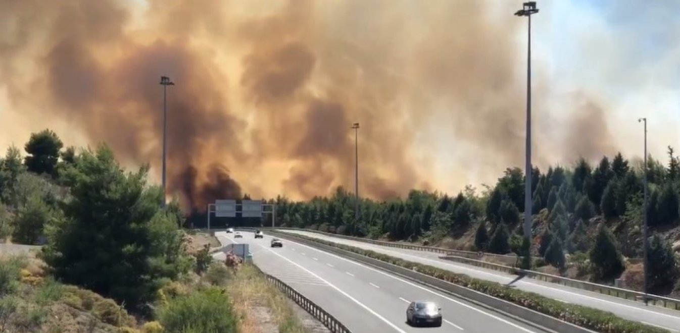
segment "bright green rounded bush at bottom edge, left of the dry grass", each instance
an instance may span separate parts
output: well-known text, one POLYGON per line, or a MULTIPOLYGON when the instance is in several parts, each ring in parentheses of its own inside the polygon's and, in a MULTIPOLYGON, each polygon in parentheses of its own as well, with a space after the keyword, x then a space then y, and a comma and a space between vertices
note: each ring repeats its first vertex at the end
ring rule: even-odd
POLYGON ((238 332, 237 316, 223 290, 208 287, 160 306, 158 321, 167 332, 238 332))

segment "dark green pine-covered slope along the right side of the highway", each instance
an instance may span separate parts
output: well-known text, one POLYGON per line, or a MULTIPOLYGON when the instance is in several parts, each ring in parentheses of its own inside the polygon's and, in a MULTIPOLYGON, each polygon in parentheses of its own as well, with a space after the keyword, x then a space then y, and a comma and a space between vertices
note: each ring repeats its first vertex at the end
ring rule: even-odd
MULTIPOLYGON (((672 147, 666 164, 647 160, 647 207, 641 160, 616 154, 596 165, 581 158, 572 167, 534 168, 533 269, 610 285, 620 278, 625 287, 642 290, 646 211, 651 292, 680 297, 680 161, 672 147)), ((293 202, 279 197, 272 202, 280 226, 527 257, 522 245, 524 173, 518 168, 506 169, 481 192, 467 186, 456 196, 412 190, 406 198, 386 202, 362 198, 359 220, 354 218, 354 195, 343 188, 329 198, 293 202)))

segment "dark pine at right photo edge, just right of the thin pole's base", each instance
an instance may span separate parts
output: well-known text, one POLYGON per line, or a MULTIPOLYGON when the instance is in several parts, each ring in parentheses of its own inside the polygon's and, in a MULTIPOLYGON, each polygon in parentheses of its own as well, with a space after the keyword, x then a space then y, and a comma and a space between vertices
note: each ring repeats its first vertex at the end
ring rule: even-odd
POLYGON ((647 279, 649 287, 656 289, 673 285, 679 273, 673 247, 658 234, 651 237, 648 246, 649 270, 647 279))

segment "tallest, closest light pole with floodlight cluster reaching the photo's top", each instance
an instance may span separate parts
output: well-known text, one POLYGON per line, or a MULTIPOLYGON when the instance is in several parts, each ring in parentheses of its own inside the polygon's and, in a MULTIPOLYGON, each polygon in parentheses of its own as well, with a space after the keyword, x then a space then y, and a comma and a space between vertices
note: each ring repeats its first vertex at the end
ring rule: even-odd
POLYGON ((526 164, 524 171, 524 236, 531 240, 531 16, 538 13, 536 1, 525 2, 516 16, 526 16, 529 20, 526 55, 526 164))

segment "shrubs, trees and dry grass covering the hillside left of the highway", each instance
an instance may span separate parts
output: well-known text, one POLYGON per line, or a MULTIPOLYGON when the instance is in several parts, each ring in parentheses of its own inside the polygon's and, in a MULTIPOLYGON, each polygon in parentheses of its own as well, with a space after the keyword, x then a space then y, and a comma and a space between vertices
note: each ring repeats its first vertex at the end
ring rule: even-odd
POLYGON ((160 209, 148 166, 50 130, 24 151, 0 158, 0 241, 43 247, 0 258, 0 332, 305 332, 262 273, 214 262, 214 237, 182 230, 176 202, 160 209))

